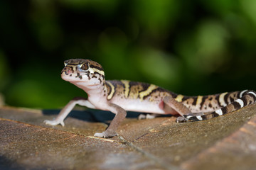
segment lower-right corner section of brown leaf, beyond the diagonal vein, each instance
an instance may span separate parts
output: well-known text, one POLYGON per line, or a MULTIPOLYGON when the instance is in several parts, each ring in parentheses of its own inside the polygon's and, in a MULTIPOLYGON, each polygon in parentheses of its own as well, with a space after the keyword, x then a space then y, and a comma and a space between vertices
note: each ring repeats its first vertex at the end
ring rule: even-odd
POLYGON ((220 140, 188 162, 183 169, 255 169, 256 116, 232 135, 220 140))

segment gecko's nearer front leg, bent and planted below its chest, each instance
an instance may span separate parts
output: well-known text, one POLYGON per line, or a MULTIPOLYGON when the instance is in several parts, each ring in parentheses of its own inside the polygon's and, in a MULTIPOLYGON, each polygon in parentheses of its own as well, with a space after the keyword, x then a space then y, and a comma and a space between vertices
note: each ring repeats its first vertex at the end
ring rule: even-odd
POLYGON ((112 122, 110 123, 110 126, 107 128, 107 130, 105 132, 95 133, 94 136, 96 136, 96 137, 108 138, 108 137, 116 136, 117 135, 116 130, 117 130, 118 126, 120 125, 120 123, 122 123, 122 121, 124 120, 124 118, 127 115, 127 112, 124 111, 124 109, 121 108, 120 106, 117 106, 114 103, 110 103, 109 106, 110 106, 109 111, 111 111, 112 113, 115 114, 114 119, 112 120, 112 122))

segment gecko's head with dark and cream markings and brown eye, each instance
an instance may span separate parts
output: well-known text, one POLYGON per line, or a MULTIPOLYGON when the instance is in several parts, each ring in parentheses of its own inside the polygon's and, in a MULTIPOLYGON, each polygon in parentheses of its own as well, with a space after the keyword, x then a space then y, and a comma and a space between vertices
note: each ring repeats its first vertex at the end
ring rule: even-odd
POLYGON ((97 62, 85 59, 65 60, 61 78, 70 83, 102 84, 105 81, 103 68, 97 62))

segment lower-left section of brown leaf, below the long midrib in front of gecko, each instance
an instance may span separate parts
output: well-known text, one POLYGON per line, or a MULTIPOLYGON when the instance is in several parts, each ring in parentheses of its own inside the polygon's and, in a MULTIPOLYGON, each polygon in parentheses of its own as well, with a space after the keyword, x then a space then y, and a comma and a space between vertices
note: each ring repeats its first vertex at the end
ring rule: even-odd
POLYGON ((0 118, 0 169, 161 169, 122 142, 0 118))

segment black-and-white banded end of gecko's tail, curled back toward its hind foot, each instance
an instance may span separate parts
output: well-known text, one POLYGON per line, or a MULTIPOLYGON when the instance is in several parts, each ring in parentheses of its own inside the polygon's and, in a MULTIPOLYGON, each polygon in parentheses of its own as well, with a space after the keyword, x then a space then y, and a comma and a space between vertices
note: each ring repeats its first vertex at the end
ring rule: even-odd
POLYGON ((183 115, 187 120, 186 121, 201 121, 208 120, 211 118, 218 117, 220 115, 225 115, 227 113, 237 111, 240 108, 248 106, 255 103, 256 101, 256 92, 252 90, 240 91, 238 98, 227 106, 220 108, 212 113, 206 115, 183 115))

